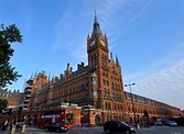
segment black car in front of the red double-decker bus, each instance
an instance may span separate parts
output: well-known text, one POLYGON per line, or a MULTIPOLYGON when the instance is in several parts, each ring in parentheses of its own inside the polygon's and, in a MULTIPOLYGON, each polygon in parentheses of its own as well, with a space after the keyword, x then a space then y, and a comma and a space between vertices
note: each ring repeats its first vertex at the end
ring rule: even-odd
POLYGON ((61 125, 59 123, 52 123, 45 126, 45 131, 46 132, 56 132, 56 133, 61 133, 61 132, 67 132, 68 129, 65 127, 64 125, 61 125))

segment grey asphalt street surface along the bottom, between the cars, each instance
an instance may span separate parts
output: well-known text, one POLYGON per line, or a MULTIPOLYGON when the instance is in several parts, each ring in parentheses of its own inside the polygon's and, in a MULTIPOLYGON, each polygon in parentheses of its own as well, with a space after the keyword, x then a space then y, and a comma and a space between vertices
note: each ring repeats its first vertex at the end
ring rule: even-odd
MULTIPOLYGON (((10 134, 10 131, 6 131, 3 134, 10 134)), ((15 132, 14 134, 22 134, 15 132)), ((55 134, 52 132, 45 132, 45 130, 36 127, 26 127, 24 134, 55 134)), ((74 127, 71 129, 66 134, 105 134, 102 127, 74 127)), ((170 126, 153 126, 150 129, 139 129, 137 134, 184 134, 184 127, 170 127, 170 126)))

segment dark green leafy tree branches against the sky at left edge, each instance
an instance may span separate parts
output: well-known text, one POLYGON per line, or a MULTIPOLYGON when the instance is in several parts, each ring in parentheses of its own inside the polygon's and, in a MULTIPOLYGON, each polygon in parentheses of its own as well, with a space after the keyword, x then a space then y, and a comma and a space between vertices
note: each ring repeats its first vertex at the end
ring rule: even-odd
POLYGON ((15 71, 15 67, 10 64, 14 49, 11 43, 22 43, 22 35, 15 24, 4 26, 0 24, 0 88, 4 88, 8 83, 17 81, 21 75, 15 71))

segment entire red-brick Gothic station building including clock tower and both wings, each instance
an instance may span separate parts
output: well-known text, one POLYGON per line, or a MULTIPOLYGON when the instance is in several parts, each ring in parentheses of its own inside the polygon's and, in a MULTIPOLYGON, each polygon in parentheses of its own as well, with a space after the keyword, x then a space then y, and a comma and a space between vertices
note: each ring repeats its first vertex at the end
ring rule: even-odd
POLYGON ((132 101, 123 91, 119 59, 109 54, 108 38, 96 15, 87 36, 87 54, 88 65, 82 62, 75 71, 67 64, 58 77, 35 72, 26 81, 22 119, 36 123, 43 114, 62 113, 67 122, 99 125, 107 120, 134 123, 182 114, 177 108, 138 94, 132 94, 132 101))

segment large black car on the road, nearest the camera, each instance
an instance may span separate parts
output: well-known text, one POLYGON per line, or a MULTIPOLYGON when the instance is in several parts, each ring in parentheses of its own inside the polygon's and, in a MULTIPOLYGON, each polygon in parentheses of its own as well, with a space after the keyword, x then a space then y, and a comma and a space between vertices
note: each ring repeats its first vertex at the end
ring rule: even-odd
POLYGON ((131 125, 126 124, 125 122, 120 121, 107 121, 104 124, 104 131, 107 134, 111 134, 113 132, 123 132, 123 133, 129 133, 133 134, 136 133, 134 129, 131 125))

